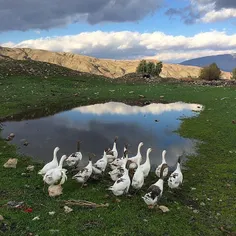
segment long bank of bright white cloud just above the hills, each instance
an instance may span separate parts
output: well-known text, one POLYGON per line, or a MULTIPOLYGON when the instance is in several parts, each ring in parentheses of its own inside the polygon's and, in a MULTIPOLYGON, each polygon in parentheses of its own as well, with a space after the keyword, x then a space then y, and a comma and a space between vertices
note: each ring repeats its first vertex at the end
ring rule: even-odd
POLYGON ((187 37, 167 35, 158 31, 152 33, 94 31, 25 40, 18 44, 8 42, 2 46, 72 52, 99 58, 157 58, 162 61, 178 62, 197 56, 235 53, 236 34, 208 31, 187 37))

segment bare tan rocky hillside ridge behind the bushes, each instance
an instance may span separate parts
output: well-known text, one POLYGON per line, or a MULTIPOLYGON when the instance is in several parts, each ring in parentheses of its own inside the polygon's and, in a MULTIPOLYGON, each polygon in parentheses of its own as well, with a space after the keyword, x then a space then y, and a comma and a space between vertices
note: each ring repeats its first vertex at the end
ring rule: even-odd
MULTIPOLYGON (((28 48, 0 47, 0 59, 11 58, 15 60, 34 60, 56 64, 72 70, 103 75, 110 78, 118 78, 125 74, 133 73, 139 60, 108 60, 79 54, 50 52, 28 48)), ((162 77, 186 78, 198 77, 201 68, 178 64, 163 64, 162 77)), ((222 73, 222 78, 229 79, 231 74, 222 73)))

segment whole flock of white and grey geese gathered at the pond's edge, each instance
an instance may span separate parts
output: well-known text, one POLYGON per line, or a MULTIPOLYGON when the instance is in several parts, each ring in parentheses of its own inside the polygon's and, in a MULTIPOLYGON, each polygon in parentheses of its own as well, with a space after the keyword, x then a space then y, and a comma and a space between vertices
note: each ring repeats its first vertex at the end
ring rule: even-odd
MULTIPOLYGON (((80 141, 77 143, 76 152, 68 157, 63 155, 58 162, 57 152, 60 150, 56 147, 53 152, 53 160, 47 163, 38 174, 42 175, 44 183, 49 187, 53 185, 62 185, 67 180, 69 170, 77 172, 72 179, 81 184, 81 187, 90 178, 101 178, 106 173, 107 169, 111 180, 114 182, 108 190, 112 191, 115 196, 121 196, 129 193, 130 187, 135 191, 140 190, 148 177, 151 170, 150 153, 152 148, 146 151, 146 160, 143 164, 141 155, 141 147, 143 142, 140 142, 137 149, 137 154, 128 157, 128 145, 124 146, 123 155, 118 157, 117 137, 114 140, 112 149, 106 148, 103 151, 102 158, 96 162, 92 162, 92 155, 89 156, 88 164, 84 168, 79 168, 79 163, 82 160, 80 151, 80 141)), ((163 194, 164 181, 167 180, 170 189, 178 189, 183 183, 183 174, 180 166, 180 158, 177 161, 176 169, 170 174, 169 166, 165 159, 166 150, 162 151, 162 162, 156 168, 156 181, 147 189, 146 194, 142 196, 144 202, 149 208, 157 205, 163 194), (169 174, 169 175, 168 175, 169 174)))

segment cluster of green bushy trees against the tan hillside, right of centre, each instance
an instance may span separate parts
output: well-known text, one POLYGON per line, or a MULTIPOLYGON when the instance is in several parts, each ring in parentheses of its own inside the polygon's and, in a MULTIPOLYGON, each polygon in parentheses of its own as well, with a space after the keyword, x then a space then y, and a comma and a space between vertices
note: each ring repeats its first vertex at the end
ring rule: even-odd
POLYGON ((150 74, 153 76, 159 76, 162 71, 162 62, 153 63, 153 62, 146 62, 146 60, 140 61, 136 72, 142 74, 150 74))

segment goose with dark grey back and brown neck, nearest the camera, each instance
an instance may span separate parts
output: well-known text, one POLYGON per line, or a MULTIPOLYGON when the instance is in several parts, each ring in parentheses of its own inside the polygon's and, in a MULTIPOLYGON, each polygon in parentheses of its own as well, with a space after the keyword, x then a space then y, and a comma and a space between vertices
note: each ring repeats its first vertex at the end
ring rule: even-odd
POLYGON ((166 168, 167 164, 163 164, 160 173, 160 179, 154 184, 152 184, 147 193, 142 197, 144 202, 148 205, 149 208, 153 208, 157 202, 162 197, 163 193, 163 184, 164 184, 164 169, 166 168))

